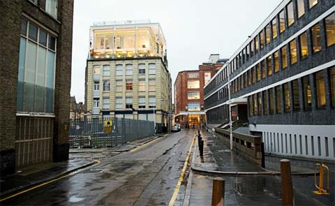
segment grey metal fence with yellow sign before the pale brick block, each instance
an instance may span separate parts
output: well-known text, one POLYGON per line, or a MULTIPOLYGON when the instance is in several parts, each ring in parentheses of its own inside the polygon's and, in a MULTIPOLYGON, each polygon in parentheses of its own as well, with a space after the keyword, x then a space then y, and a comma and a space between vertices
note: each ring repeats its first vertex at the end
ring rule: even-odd
POLYGON ((154 122, 124 118, 70 119, 71 148, 114 147, 154 135, 154 122))

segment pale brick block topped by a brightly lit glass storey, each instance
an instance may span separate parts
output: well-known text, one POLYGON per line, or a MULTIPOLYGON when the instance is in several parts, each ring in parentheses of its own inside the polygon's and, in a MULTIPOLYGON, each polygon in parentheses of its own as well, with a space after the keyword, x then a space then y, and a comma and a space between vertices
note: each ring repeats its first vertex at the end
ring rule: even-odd
POLYGON ((85 105, 88 117, 119 117, 170 128, 171 77, 160 24, 99 22, 90 29, 85 105))

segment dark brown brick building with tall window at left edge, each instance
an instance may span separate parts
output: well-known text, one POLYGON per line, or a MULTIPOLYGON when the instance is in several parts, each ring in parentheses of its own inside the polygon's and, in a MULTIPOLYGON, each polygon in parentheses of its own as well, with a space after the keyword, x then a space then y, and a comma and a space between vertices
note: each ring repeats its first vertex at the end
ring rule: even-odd
POLYGON ((68 159, 73 0, 0 1, 1 175, 68 159))

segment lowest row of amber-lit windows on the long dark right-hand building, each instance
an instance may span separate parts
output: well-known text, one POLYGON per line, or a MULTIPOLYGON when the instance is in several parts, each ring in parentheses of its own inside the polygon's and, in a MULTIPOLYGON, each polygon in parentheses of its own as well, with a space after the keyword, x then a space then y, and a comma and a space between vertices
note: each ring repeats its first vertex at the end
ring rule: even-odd
POLYGON ((330 105, 334 108, 335 67, 328 68, 325 71, 313 73, 312 78, 310 75, 306 75, 300 79, 248 96, 249 115, 274 115, 282 112, 308 111, 312 110, 313 99, 316 100, 316 108, 325 108, 327 102, 326 81, 329 82, 330 105), (325 78, 325 71, 328 73, 327 79, 325 78), (311 87, 311 80, 314 81, 314 88, 311 87), (300 93, 300 91, 302 92, 300 93), (315 98, 313 98, 312 94, 315 98), (302 105, 300 105, 301 98, 303 100, 302 105))

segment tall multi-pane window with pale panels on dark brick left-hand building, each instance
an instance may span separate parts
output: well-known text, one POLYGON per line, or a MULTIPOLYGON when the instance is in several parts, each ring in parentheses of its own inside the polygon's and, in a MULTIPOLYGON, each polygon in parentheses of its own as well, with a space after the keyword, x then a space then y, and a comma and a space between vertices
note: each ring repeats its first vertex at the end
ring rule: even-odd
POLYGON ((21 26, 17 111, 54 112, 56 38, 27 20, 21 26))

